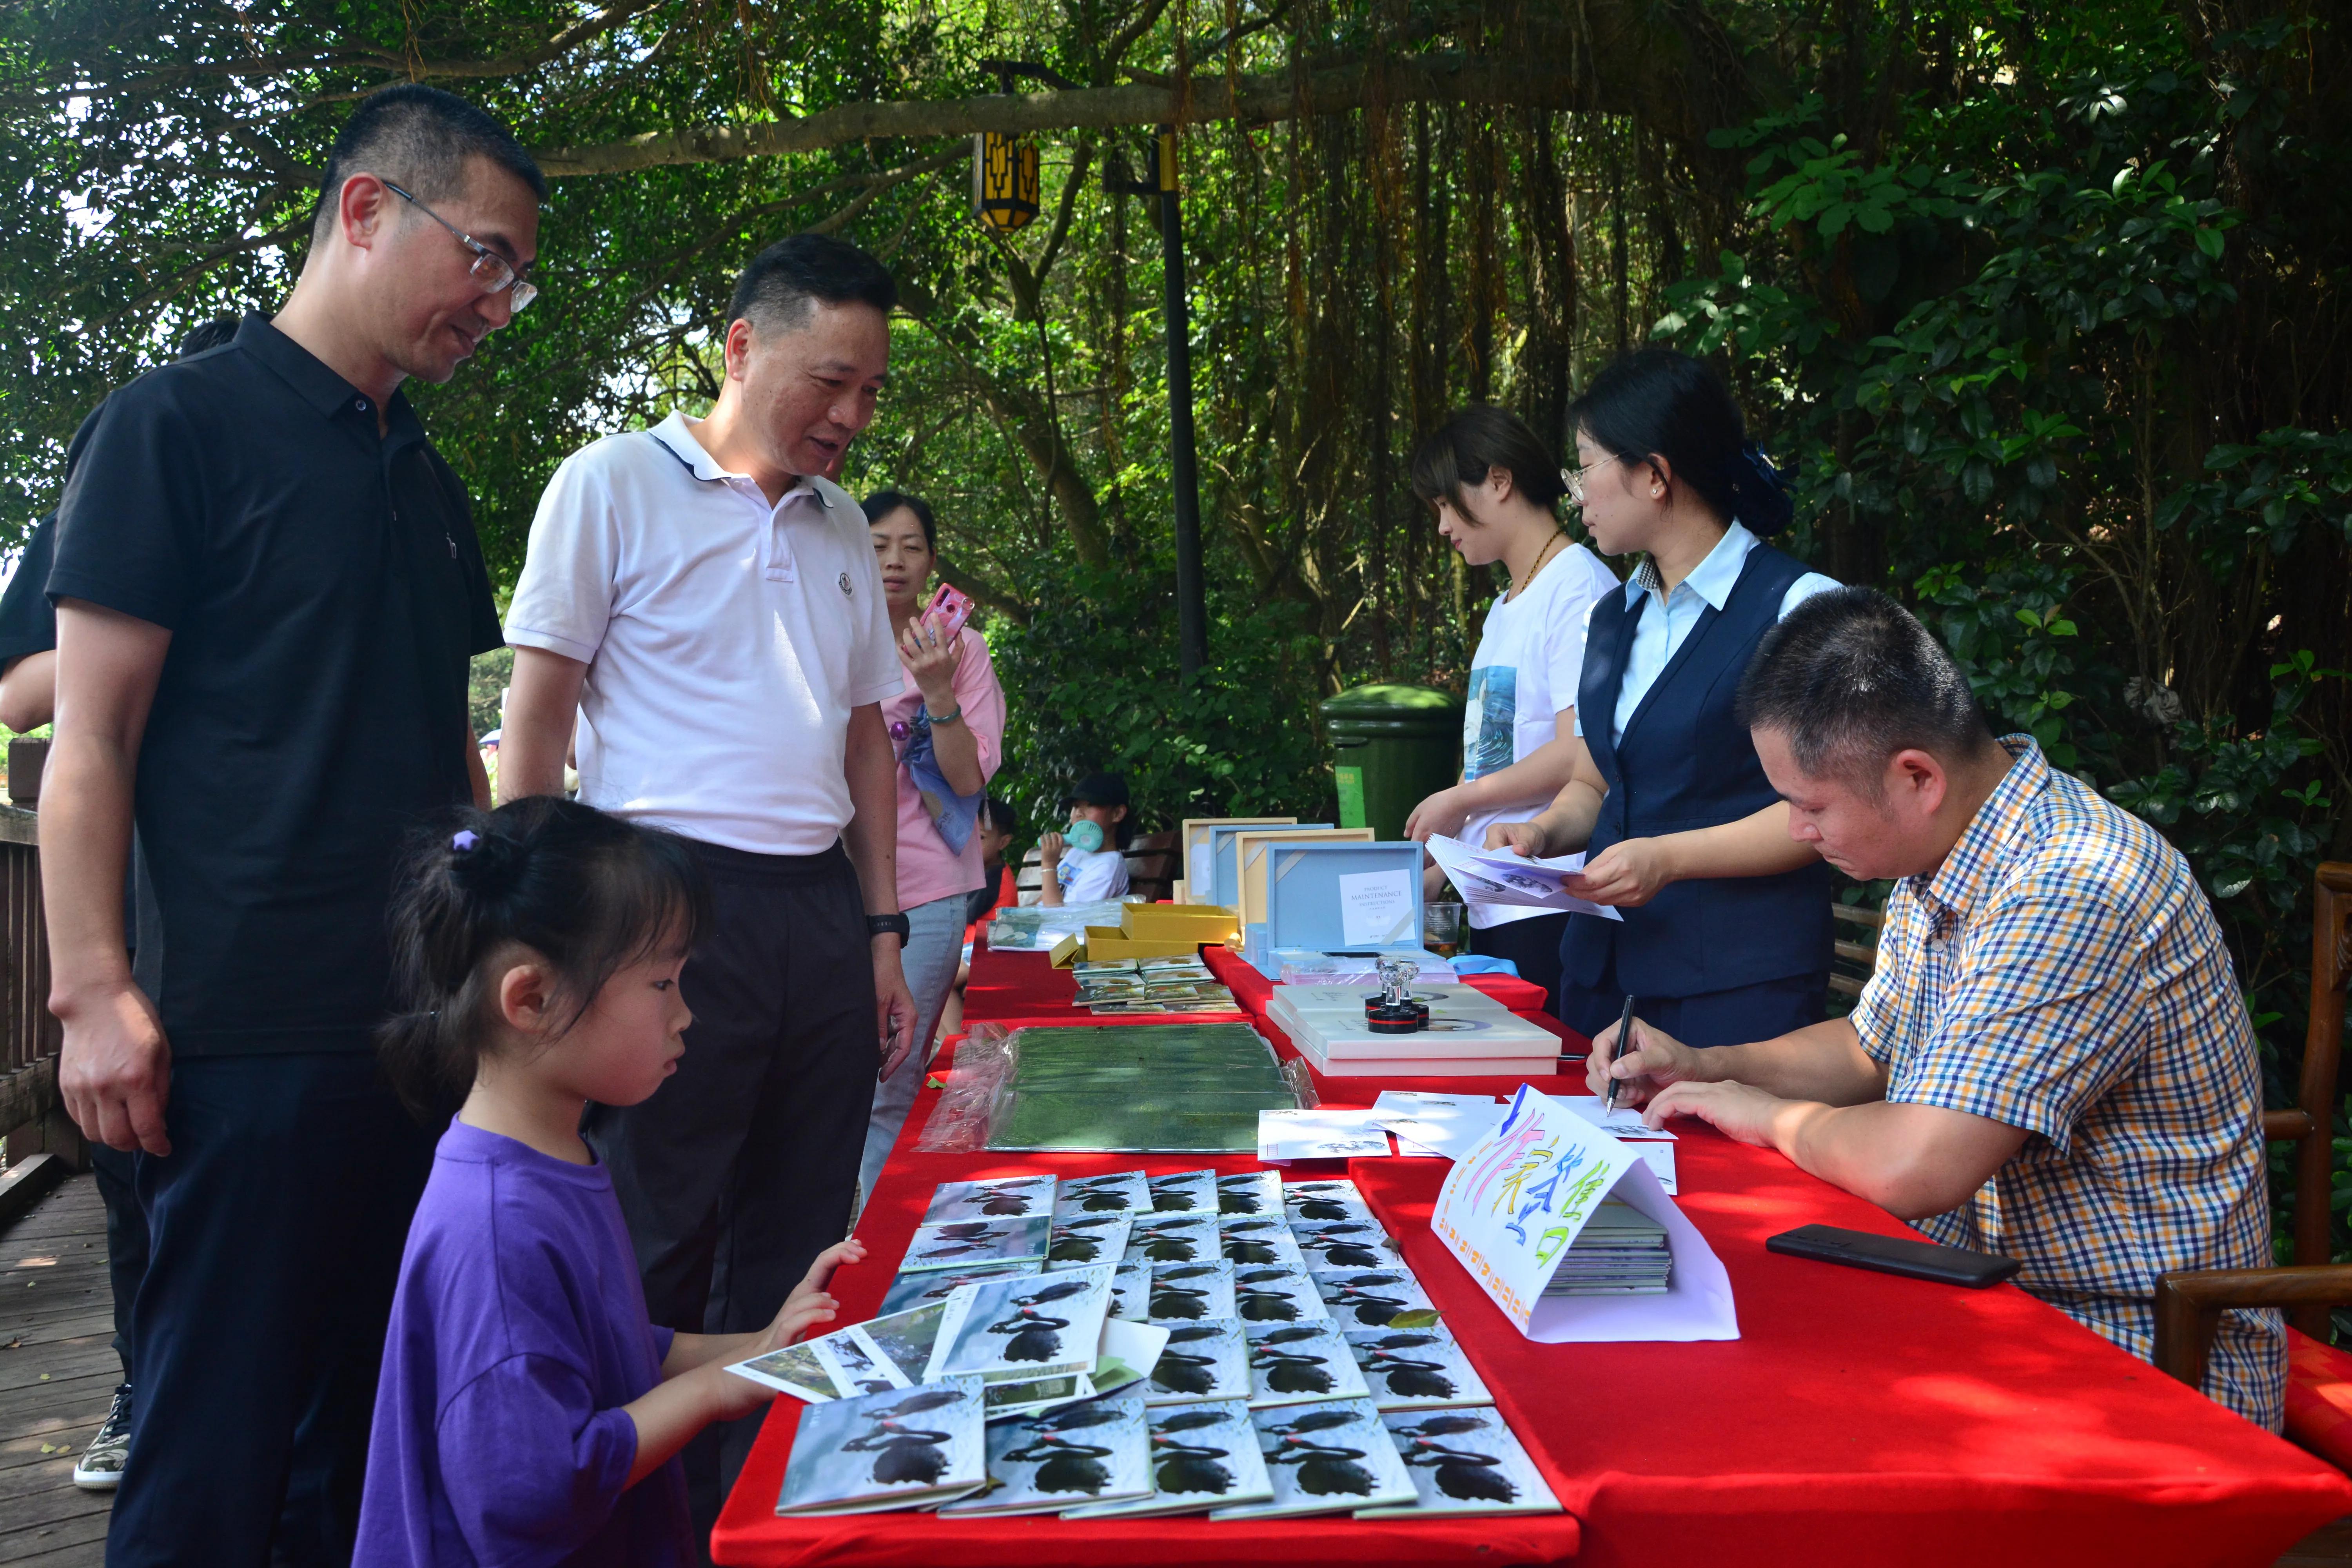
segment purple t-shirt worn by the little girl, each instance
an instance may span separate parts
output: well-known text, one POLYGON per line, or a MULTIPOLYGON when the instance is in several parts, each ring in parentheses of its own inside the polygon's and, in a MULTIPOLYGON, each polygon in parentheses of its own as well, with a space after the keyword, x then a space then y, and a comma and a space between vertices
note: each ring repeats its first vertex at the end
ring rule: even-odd
POLYGON ((621 1406, 670 1338, 604 1166, 452 1121, 400 1258, 355 1568, 694 1561, 680 1462, 628 1486, 621 1406))

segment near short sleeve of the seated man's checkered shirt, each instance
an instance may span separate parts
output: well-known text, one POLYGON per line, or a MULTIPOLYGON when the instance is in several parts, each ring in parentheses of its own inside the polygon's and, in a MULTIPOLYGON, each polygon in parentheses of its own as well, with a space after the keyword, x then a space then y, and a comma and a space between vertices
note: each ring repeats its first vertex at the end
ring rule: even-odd
POLYGON ((1943 1006, 1886 1098, 2042 1133, 2074 1124, 2145 1051, 2143 961, 2122 914, 2079 882, 2025 877, 1969 922, 1943 1006))

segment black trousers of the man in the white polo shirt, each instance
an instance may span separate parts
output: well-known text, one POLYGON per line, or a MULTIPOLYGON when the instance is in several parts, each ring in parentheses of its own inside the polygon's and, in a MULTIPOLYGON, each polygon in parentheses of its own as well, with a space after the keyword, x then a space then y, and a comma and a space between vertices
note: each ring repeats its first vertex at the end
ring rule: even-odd
MULTIPOLYGON (((694 1011, 677 1072, 642 1105, 590 1105, 656 1324, 767 1328, 809 1262, 849 1234, 882 1046, 856 870, 818 856, 696 844, 715 931, 687 959, 694 1011)), ((687 1448, 708 1542, 760 1418, 687 1448)))

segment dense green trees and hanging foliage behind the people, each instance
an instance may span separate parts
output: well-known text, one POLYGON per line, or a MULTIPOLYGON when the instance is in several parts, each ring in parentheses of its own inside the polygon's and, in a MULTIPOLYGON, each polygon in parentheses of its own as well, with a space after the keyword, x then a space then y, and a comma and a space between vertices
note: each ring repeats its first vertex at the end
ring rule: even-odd
POLYGON ((936 501, 990 607, 1009 788, 1035 809, 1117 766, 1155 825, 1319 811, 1315 701, 1458 686, 1496 590, 1414 503, 1414 437, 1484 397, 1564 440, 1590 371, 1665 336, 1717 355, 1792 473, 1799 552, 1917 604, 2004 722, 2190 853, 2284 1103, 2310 872, 2352 856, 2352 45, 2312 0, 16 0, 0 527, 179 327, 282 296, 372 85, 614 148, 993 94, 990 56, 1181 103, 1359 68, 1345 103, 1181 136, 1200 684, 1174 672, 1157 221, 1105 186, 1145 136, 1110 122, 1037 134, 1047 209, 1011 240, 964 214, 946 134, 560 179, 546 301, 419 393, 501 574, 564 451, 708 402, 741 259, 826 226, 908 296, 847 482, 936 501), (1439 66, 1465 85, 1406 89, 1439 66))

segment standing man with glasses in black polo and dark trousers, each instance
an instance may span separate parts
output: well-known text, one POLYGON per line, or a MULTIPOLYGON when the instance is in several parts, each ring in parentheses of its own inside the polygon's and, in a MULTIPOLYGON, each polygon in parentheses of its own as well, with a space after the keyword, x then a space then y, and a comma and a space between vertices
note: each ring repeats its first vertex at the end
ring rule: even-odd
POLYGON ((435 1138, 376 1077, 383 912, 402 839, 487 795, 466 672, 499 646, 466 491, 400 383, 529 303, 543 197, 470 103, 369 96, 285 310, 108 397, 59 508, 59 1088, 134 1152, 153 1248, 108 1563, 350 1559, 435 1138))

